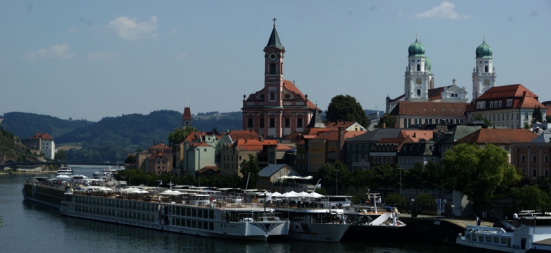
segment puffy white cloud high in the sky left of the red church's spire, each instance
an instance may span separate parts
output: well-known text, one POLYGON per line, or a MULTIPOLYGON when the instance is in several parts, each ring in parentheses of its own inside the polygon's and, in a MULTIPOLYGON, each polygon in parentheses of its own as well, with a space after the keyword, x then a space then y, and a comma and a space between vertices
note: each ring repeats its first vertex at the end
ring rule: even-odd
POLYGON ((152 16, 149 21, 136 23, 136 19, 129 19, 126 16, 118 17, 105 28, 113 30, 116 35, 128 41, 138 41, 144 38, 154 38, 157 36, 157 17, 152 16))

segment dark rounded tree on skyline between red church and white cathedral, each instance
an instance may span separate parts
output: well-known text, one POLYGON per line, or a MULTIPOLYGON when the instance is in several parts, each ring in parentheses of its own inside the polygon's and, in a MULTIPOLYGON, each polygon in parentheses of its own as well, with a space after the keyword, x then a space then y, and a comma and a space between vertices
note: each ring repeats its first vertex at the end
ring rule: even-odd
POLYGON ((354 121, 364 127, 369 126, 366 112, 353 96, 337 95, 331 98, 325 118, 329 121, 354 121))

